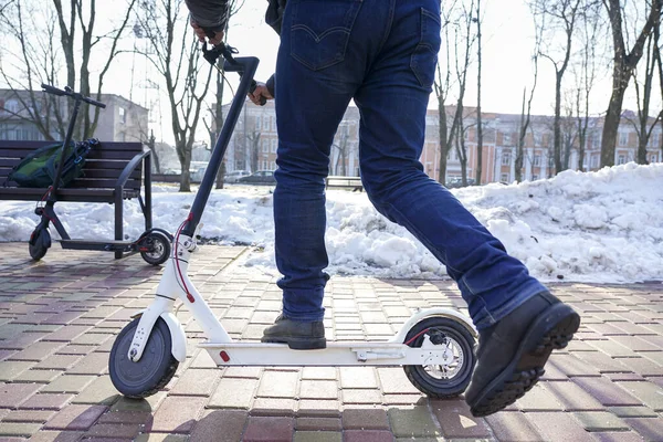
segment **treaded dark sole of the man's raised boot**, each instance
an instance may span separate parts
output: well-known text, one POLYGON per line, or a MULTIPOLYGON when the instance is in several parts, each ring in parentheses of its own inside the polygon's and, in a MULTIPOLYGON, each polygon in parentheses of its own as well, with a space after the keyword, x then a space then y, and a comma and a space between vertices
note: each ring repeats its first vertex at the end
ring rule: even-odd
POLYGON ((544 375, 552 350, 565 348, 578 327, 580 316, 566 304, 544 311, 525 334, 512 362, 470 403, 472 414, 493 414, 525 396, 544 375))

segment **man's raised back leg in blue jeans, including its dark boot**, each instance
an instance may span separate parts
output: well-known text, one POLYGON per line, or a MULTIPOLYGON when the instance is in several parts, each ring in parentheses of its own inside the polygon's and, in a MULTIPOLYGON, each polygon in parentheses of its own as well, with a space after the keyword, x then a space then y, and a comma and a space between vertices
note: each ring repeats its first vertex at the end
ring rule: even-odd
POLYGON ((440 3, 396 4, 389 39, 355 95, 361 177, 378 211, 415 235, 459 284, 481 334, 466 399, 473 413, 490 414, 532 388, 579 317, 423 172, 419 158, 440 46, 440 3))

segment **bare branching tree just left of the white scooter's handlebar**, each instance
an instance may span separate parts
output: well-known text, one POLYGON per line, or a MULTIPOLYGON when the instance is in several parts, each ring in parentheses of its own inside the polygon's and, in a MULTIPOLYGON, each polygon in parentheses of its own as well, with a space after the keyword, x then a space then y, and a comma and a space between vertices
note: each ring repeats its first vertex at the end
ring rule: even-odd
POLYGON ((212 67, 189 32, 183 0, 146 0, 138 22, 149 41, 144 54, 166 83, 175 148, 181 167, 180 192, 191 190, 189 167, 212 67))

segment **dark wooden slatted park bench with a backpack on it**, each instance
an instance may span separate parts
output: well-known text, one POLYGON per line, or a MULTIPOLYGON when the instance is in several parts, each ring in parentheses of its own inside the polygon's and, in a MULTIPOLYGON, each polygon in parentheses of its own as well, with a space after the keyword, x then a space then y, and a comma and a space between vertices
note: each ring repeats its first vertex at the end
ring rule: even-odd
MULTIPOLYGON (((40 201, 48 189, 18 187, 7 177, 28 154, 53 141, 0 140, 0 200, 40 201), (4 183, 4 185, 3 185, 4 183)), ((123 241, 123 201, 137 198, 145 217, 145 230, 151 229, 150 152, 140 143, 101 143, 86 157, 84 176, 57 190, 57 201, 106 202, 115 204, 115 240, 123 241), (145 182, 144 196, 140 188, 145 182)), ((115 252, 115 257, 122 257, 115 252)))

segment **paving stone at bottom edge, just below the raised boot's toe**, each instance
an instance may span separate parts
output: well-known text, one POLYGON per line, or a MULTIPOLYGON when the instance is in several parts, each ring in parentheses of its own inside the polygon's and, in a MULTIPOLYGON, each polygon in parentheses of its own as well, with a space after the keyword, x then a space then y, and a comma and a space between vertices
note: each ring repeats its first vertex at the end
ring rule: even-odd
POLYGON ((491 432, 484 419, 474 418, 470 407, 463 401, 431 401, 433 414, 438 418, 444 438, 488 438, 491 432))

